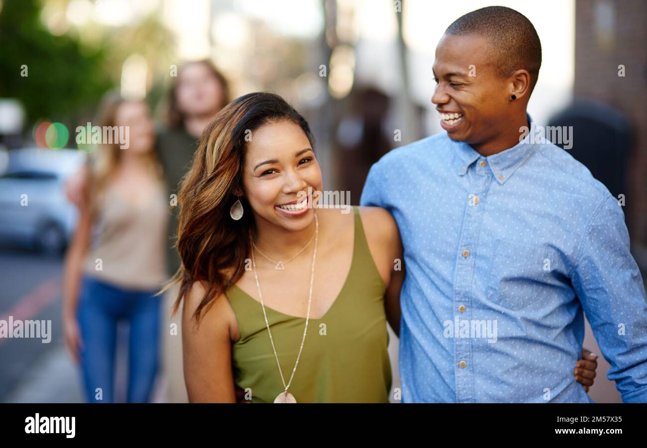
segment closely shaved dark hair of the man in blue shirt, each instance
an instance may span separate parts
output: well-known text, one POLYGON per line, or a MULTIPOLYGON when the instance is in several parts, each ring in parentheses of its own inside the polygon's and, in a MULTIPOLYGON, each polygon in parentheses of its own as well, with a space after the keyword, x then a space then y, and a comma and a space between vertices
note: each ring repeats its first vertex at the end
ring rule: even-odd
POLYGON ((492 65, 501 77, 519 69, 528 70, 531 92, 537 83, 542 65, 542 44, 531 21, 520 12, 505 6, 487 6, 461 16, 445 34, 487 37, 494 48, 492 65))

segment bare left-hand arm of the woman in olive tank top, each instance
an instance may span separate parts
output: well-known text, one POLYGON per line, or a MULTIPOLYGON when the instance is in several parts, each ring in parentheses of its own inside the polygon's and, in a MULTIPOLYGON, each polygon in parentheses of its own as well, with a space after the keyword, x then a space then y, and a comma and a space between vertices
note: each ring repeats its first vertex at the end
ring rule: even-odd
MULTIPOLYGON (((191 403, 236 403, 232 374, 231 305, 221 295, 204 311, 199 325, 193 314, 204 297, 204 285, 195 282, 182 307, 184 382, 191 403)), ((206 308, 206 307, 205 307, 206 308)))

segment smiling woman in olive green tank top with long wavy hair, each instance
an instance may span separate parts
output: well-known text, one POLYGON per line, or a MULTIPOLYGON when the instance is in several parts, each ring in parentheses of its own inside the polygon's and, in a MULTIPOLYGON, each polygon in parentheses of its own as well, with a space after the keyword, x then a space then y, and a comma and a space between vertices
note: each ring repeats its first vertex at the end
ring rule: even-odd
POLYGON ((190 401, 238 388, 254 402, 388 403, 397 226, 380 208, 315 210, 322 189, 309 125, 280 96, 241 96, 206 127, 179 194, 174 279, 190 401))

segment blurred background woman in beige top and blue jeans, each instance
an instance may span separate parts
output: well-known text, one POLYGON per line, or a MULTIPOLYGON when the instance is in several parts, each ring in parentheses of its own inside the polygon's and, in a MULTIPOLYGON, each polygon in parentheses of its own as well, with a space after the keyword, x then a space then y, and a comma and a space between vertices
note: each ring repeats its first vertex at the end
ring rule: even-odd
POLYGON ((80 363, 87 400, 112 402, 117 324, 127 321, 126 399, 146 402, 159 367, 162 301, 154 294, 167 277, 166 187, 144 101, 108 96, 100 125, 129 127, 129 147, 103 142, 83 169, 65 257, 65 344, 80 363))

